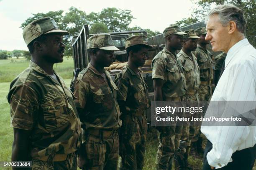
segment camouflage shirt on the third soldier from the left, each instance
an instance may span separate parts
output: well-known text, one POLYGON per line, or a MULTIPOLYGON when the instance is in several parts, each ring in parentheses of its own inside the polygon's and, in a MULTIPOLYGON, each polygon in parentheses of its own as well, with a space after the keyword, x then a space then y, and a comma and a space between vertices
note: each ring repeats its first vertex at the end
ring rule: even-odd
POLYGON ((125 101, 127 112, 144 111, 150 106, 147 85, 141 75, 136 74, 128 64, 122 69, 116 79, 118 85, 118 100, 125 101), (120 73, 122 77, 120 78, 120 73))

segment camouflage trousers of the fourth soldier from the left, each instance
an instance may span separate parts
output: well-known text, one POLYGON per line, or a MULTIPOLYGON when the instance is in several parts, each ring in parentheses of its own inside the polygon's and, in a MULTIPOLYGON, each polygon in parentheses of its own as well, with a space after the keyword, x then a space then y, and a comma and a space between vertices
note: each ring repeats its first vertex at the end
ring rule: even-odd
POLYGON ((161 132, 157 132, 159 146, 156 153, 156 170, 168 170, 169 162, 174 153, 179 149, 179 140, 182 136, 182 125, 166 126, 161 132))

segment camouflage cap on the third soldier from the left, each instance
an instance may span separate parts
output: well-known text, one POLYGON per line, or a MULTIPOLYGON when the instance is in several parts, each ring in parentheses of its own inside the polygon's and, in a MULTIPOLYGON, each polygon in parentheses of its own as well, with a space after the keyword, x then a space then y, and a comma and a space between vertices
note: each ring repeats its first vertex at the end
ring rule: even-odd
POLYGON ((145 45, 148 48, 152 48, 152 46, 148 45, 148 41, 146 40, 146 36, 138 35, 138 36, 131 36, 125 40, 125 49, 135 45, 145 45))

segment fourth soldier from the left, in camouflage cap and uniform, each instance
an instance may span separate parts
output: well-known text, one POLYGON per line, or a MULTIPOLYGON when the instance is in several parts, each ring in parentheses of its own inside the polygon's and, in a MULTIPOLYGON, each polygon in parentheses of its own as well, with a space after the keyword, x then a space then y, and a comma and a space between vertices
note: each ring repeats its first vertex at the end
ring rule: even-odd
MULTIPOLYGON (((178 25, 164 30, 165 47, 152 61, 154 99, 156 101, 182 101, 187 93, 182 63, 177 60, 176 50, 182 48, 182 32, 178 25)), ((172 158, 179 148, 182 126, 158 126, 159 147, 156 169, 171 169, 172 158)))

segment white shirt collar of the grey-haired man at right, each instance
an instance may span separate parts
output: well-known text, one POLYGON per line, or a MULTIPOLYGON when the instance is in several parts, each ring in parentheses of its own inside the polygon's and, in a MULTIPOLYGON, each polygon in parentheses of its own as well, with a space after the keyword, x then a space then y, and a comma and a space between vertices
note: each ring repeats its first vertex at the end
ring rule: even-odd
POLYGON ((231 61, 231 59, 235 56, 235 54, 241 49, 243 48, 243 46, 248 45, 249 42, 247 40, 247 38, 244 38, 241 41, 238 41, 235 45, 233 45, 227 53, 226 59, 225 59, 225 68, 228 66, 228 63, 231 61))

